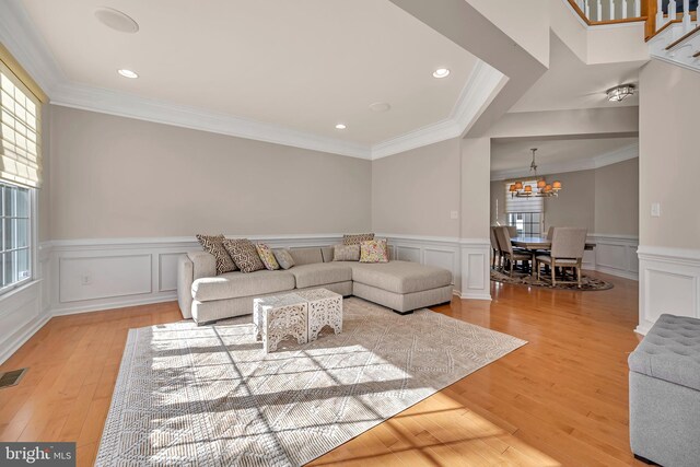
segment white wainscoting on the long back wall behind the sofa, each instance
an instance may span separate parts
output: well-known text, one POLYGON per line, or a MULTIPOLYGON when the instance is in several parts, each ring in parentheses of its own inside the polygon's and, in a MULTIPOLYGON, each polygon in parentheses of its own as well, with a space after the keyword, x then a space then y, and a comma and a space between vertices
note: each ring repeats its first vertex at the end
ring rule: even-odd
MULTIPOLYGON (((273 248, 325 246, 342 238, 340 234, 246 236, 273 248)), ((42 245, 49 264, 48 307, 54 315, 66 315, 174 301, 177 260, 200 248, 194 237, 48 242, 42 245)))

